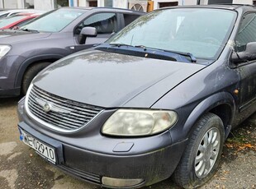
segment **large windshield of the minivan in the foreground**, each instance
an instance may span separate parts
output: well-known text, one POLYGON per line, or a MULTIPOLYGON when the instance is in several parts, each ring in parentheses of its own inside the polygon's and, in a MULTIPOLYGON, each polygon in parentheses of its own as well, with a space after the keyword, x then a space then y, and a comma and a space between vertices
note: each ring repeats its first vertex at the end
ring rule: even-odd
POLYGON ((216 59, 224 48, 236 12, 208 8, 159 10, 141 16, 109 39, 110 44, 158 48, 216 59))

